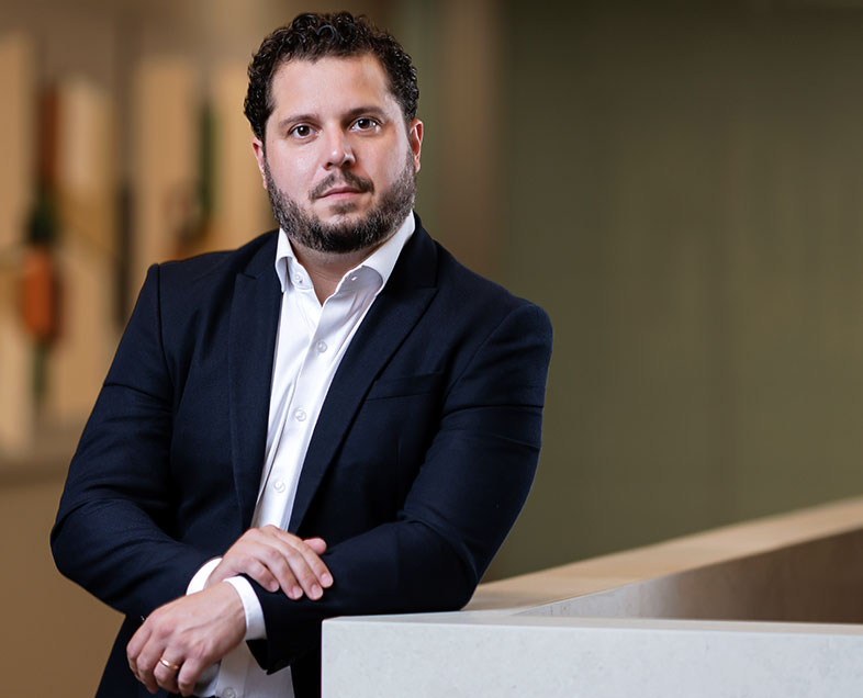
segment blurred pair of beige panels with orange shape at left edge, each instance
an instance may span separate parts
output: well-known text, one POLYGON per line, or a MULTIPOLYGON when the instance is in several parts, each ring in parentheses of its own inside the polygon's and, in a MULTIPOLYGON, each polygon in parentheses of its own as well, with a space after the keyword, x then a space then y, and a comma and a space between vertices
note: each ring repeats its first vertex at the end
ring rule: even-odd
POLYGON ((0 42, 0 454, 80 428, 117 339, 113 103, 82 78, 40 89, 34 56, 0 42))

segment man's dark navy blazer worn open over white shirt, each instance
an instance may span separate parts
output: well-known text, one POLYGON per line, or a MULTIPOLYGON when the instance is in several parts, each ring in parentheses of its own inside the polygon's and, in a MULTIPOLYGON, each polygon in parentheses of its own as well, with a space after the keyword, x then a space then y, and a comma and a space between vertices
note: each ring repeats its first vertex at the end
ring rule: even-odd
MULTIPOLYGON (((58 568, 126 616, 99 696, 149 696, 125 645, 142 618, 245 531, 264 464, 281 290, 276 233, 154 266, 75 453, 58 568)), ((253 582, 267 671, 320 691, 320 633, 343 615, 471 597, 527 496, 551 326, 459 264, 417 219, 327 393, 289 530, 320 536, 317 601, 253 582)))

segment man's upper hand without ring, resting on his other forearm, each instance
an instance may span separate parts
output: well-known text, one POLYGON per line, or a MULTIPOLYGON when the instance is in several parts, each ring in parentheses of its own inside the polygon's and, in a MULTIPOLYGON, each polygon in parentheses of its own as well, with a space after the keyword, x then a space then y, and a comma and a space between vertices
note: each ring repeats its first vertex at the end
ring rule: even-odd
POLYGON ((228 548, 206 586, 247 574, 270 592, 282 589, 294 600, 305 593, 317 600, 333 585, 333 575, 321 560, 325 551, 321 538, 303 540, 274 526, 250 528, 228 548))

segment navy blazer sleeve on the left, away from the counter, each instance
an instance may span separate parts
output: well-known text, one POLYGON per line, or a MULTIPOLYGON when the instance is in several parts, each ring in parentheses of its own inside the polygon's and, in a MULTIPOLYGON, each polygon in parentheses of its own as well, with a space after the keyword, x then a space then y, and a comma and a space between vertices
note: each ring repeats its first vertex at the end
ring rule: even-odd
POLYGON ((132 616, 181 596, 208 559, 166 532, 172 392, 154 266, 72 458, 51 536, 63 574, 132 616))

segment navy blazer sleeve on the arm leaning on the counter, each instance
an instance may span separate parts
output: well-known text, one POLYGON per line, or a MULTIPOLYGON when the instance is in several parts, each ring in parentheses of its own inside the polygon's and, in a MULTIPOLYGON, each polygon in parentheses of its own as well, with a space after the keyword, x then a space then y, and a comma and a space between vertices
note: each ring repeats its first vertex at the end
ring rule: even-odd
POLYGON ((491 331, 448 386, 397 520, 327 551, 335 583, 322 599, 294 601, 251 582, 267 640, 249 646, 264 668, 316 648, 325 618, 467 604, 534 479, 550 352, 551 325, 535 305, 516 307, 491 331))

